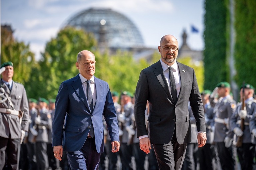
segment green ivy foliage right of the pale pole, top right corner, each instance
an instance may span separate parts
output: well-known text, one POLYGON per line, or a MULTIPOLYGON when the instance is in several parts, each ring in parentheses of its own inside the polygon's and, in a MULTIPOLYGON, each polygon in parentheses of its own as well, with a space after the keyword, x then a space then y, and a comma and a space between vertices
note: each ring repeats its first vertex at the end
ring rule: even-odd
POLYGON ((238 87, 243 81, 256 86, 256 1, 235 1, 235 80, 238 87))

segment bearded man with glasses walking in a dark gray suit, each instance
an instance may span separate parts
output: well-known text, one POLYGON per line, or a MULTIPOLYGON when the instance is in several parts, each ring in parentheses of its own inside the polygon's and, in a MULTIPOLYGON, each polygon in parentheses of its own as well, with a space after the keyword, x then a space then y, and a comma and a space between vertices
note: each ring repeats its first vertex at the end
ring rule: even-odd
POLYGON ((149 153, 153 144, 160 170, 181 169, 187 143, 191 142, 189 101, 196 120, 198 147, 206 143, 204 109, 195 72, 176 61, 178 47, 172 35, 161 39, 158 46, 161 59, 141 71, 135 91, 135 122, 140 148, 149 153), (145 125, 147 101, 150 108, 148 129, 145 125))

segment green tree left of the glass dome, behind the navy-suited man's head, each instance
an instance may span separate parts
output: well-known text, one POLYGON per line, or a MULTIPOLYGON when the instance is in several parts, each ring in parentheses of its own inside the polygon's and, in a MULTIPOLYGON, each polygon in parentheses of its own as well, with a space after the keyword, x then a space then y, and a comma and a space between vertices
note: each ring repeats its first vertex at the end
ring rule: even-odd
POLYGON ((78 52, 92 50, 97 44, 91 33, 66 27, 60 30, 56 38, 47 42, 45 52, 34 69, 30 96, 55 98, 61 82, 79 73, 75 66, 78 52))

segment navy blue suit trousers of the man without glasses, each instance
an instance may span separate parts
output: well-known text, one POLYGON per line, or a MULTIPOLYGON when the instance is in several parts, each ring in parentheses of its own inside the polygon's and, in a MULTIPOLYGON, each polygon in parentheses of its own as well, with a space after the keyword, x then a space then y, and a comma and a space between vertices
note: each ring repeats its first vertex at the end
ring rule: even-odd
POLYGON ((100 153, 96 150, 95 138, 87 137, 83 147, 74 152, 67 152, 70 170, 97 170, 99 168, 100 153))

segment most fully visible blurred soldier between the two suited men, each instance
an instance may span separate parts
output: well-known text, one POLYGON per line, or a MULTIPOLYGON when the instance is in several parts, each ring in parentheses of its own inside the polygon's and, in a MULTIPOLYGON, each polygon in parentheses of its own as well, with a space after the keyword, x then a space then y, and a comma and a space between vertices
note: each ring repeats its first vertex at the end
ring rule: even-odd
POLYGON ((131 170, 132 169, 132 145, 128 145, 129 136, 135 134, 135 131, 130 127, 131 126, 131 116, 134 113, 134 105, 131 102, 132 95, 129 92, 124 91, 121 94, 121 114, 118 116, 118 121, 122 123, 121 129, 123 131, 122 139, 120 142, 120 158, 122 163, 122 170, 131 170))

